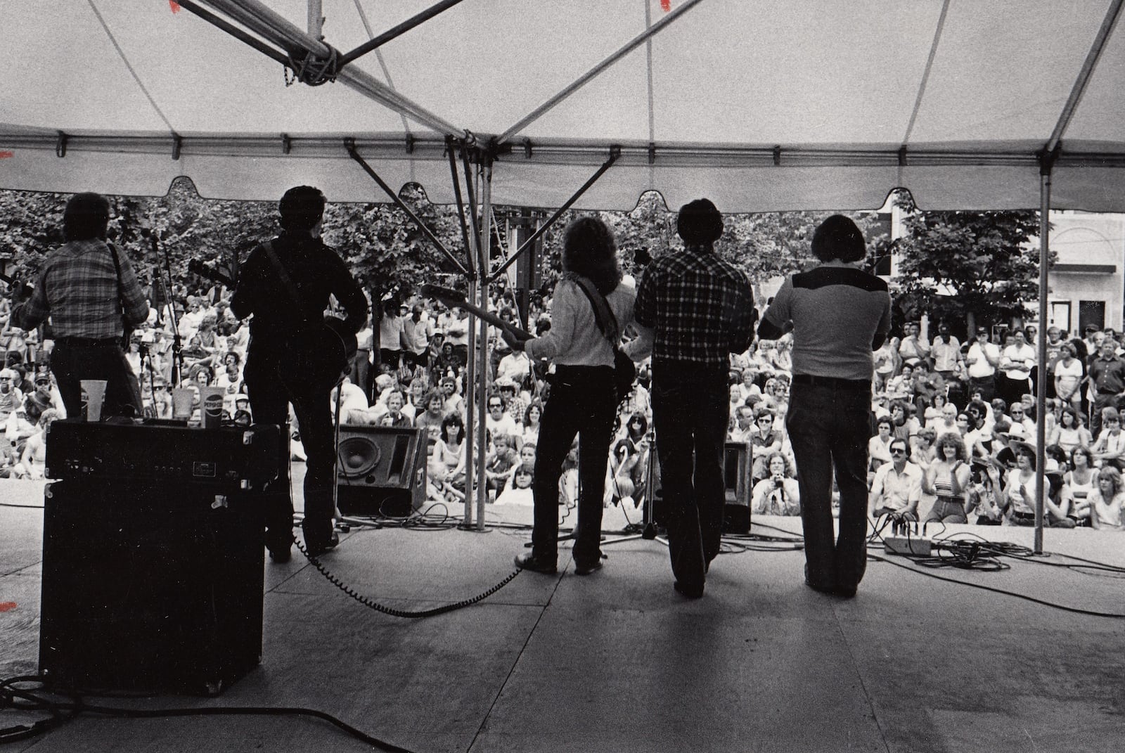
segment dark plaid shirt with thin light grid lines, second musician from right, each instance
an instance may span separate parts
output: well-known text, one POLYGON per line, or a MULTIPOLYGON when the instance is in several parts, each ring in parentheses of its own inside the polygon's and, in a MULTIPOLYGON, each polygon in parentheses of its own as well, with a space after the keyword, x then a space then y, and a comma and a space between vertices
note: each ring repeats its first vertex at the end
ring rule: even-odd
POLYGON ((652 360, 729 365, 754 338, 758 313, 746 275, 705 246, 649 265, 637 293, 637 323, 654 330, 652 360))

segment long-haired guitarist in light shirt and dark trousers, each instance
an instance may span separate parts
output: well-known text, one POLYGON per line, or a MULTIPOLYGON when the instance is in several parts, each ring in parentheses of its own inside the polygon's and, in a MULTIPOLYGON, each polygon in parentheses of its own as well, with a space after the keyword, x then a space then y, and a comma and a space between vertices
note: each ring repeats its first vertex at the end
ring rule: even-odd
MULTIPOLYGON (((574 572, 588 575, 602 566, 605 469, 613 419, 618 402, 624 397, 618 394, 614 383, 614 348, 632 322, 636 294, 621 285, 613 234, 595 217, 580 217, 567 225, 562 272, 555 286, 551 329, 546 335, 528 340, 525 333, 502 331, 513 350, 555 364, 536 448, 531 552, 516 556, 515 564, 537 573, 557 570, 559 476, 577 436, 580 491, 574 572)), ((489 407, 493 403, 503 410, 500 397, 489 397, 489 407)))

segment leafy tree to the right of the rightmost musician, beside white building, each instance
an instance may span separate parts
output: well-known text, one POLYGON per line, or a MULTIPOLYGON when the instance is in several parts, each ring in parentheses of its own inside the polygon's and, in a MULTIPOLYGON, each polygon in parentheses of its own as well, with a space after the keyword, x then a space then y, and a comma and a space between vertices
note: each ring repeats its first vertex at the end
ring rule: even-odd
MULTIPOLYGON (((921 212, 909 195, 897 198, 904 234, 893 243, 893 279, 902 315, 976 324, 1029 313, 1038 296, 1036 212, 921 212)), ((960 328, 958 328, 960 329, 960 328)))

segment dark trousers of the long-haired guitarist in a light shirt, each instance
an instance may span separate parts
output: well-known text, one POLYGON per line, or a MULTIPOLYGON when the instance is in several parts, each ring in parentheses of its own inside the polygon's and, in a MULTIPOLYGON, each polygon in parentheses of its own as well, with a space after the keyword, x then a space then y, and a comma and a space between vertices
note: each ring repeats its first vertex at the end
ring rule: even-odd
POLYGON ((618 409, 613 368, 558 366, 550 397, 543 406, 536 447, 534 528, 532 550, 550 559, 558 553, 559 476, 562 461, 578 437, 578 522, 574 559, 592 564, 601 558, 602 504, 610 438, 618 409))

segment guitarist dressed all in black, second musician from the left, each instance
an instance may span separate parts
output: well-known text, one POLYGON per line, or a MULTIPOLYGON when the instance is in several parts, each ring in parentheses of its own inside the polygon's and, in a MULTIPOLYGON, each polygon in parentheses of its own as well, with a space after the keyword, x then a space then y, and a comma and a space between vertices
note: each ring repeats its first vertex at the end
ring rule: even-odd
MULTIPOLYGON (((338 543, 333 531, 335 486, 328 393, 349 370, 356 332, 367 320, 363 290, 336 252, 321 241, 324 195, 310 186, 281 197, 281 234, 262 243, 241 265, 231 311, 253 314, 243 379, 258 423, 285 425, 289 403, 307 456, 305 547, 323 554, 338 543), (325 317, 330 296, 346 319, 325 317)), ((267 487, 266 545, 274 562, 288 562, 292 541, 289 438, 281 438, 282 467, 267 487)))

